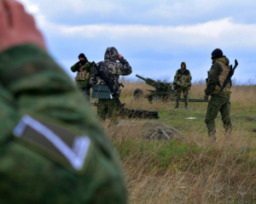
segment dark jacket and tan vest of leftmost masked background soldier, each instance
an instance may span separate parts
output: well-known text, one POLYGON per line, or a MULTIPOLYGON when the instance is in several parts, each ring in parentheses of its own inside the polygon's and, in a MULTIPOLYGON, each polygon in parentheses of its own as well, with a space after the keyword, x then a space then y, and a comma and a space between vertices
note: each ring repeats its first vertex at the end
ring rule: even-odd
POLYGON ((77 88, 90 88, 90 75, 93 70, 93 65, 89 61, 85 65, 81 65, 79 62, 74 64, 71 68, 71 71, 77 71, 77 77, 75 78, 77 88), (84 77, 79 77, 79 74, 82 74, 84 77))

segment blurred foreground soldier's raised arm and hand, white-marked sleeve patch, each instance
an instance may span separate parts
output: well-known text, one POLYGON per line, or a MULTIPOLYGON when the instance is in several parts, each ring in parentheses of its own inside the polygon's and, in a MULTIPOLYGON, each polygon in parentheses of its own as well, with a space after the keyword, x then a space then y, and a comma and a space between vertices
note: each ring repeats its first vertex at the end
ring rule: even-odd
POLYGON ((0 1, 0 203, 126 203, 119 161, 14 0, 0 1))

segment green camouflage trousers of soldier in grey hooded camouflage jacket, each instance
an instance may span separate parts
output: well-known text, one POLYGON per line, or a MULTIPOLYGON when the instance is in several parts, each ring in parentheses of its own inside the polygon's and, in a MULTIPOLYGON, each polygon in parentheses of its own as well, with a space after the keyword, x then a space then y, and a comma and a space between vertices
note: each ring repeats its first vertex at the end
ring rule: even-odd
POLYGON ((107 116, 112 120, 119 115, 119 102, 117 99, 99 99, 97 105, 99 119, 105 121, 107 116))

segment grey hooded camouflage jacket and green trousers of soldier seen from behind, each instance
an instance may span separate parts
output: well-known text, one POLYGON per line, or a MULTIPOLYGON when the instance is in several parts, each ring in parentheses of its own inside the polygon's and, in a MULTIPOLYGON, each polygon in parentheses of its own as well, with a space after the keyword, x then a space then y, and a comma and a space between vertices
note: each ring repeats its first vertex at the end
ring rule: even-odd
MULTIPOLYGON (((108 80, 113 84, 113 88, 117 94, 121 93, 119 89, 119 76, 127 76, 131 74, 131 66, 124 58, 119 59, 119 63, 116 60, 119 59, 119 53, 116 48, 107 48, 104 60, 97 63, 100 70, 108 77, 108 80)), ((96 69, 93 69, 90 84, 104 85, 105 82, 99 77, 96 69)), ((99 99, 97 106, 97 115, 101 120, 105 120, 107 115, 109 117, 115 117, 119 113, 119 104, 116 99, 99 99)))

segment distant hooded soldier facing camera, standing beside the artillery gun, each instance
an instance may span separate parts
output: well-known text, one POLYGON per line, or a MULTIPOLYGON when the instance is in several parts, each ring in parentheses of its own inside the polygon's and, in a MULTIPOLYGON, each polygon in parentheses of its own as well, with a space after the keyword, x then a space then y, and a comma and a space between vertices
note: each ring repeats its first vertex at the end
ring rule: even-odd
POLYGON ((186 63, 182 62, 181 69, 176 71, 176 75, 173 81, 173 88, 177 91, 177 99, 176 99, 176 106, 178 108, 178 102, 180 99, 180 95, 183 92, 183 97, 185 99, 185 109, 188 109, 189 103, 189 89, 191 87, 191 75, 190 71, 187 70, 186 63))

